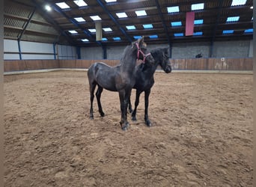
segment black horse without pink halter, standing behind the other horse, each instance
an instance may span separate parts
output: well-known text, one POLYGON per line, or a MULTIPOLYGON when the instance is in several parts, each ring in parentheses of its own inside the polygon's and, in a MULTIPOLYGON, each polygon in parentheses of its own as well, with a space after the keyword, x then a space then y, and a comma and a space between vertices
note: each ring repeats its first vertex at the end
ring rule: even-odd
POLYGON ((157 66, 162 67, 165 73, 171 73, 171 63, 169 62, 168 48, 156 48, 150 51, 154 58, 153 64, 140 64, 135 67, 135 85, 136 89, 135 108, 132 111, 132 105, 129 99, 129 111, 132 114, 132 120, 136 120, 136 111, 139 102, 139 96, 144 91, 144 120, 147 126, 151 126, 148 118, 148 98, 150 96, 151 88, 154 84, 153 73, 155 73, 157 66))

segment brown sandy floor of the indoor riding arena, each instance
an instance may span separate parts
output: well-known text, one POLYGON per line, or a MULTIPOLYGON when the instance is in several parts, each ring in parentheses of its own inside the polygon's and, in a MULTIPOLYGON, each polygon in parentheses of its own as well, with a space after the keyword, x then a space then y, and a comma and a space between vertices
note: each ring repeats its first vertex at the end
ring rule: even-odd
MULTIPOLYGON (((87 73, 4 76, 5 186, 252 186, 252 75, 156 73, 144 125, 87 73)), ((132 104, 135 91, 132 91, 132 104)))

